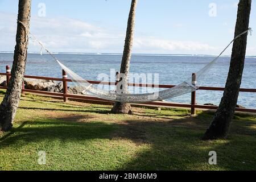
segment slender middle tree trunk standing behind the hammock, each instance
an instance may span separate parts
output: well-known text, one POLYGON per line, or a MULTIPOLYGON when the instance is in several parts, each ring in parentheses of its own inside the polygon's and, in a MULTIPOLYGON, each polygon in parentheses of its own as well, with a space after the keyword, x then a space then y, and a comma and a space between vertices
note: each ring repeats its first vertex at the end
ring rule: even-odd
MULTIPOLYGON (((135 26, 135 10, 137 6, 137 0, 131 1, 131 9, 127 23, 125 47, 123 49, 123 57, 121 64, 121 77, 120 77, 120 90, 121 93, 128 93, 128 74, 130 69, 131 60, 131 49, 133 48, 133 36, 134 36, 134 26, 135 26)), ((131 114, 131 105, 124 102, 115 102, 112 113, 116 114, 131 114)))

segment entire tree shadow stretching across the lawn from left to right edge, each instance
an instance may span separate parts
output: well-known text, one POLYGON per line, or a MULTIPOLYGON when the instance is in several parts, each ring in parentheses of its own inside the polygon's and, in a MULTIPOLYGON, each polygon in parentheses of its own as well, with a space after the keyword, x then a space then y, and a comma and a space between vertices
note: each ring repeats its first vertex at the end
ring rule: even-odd
POLYGON ((97 120, 80 122, 85 117, 88 116, 72 115, 27 122, 1 138, 0 147, 14 145, 19 148, 31 142, 51 143, 54 140, 61 140, 63 146, 66 142, 95 139, 107 142, 130 140, 138 147, 148 147, 137 151, 130 161, 115 168, 117 170, 255 169, 255 136, 234 136, 217 142, 202 141, 200 138, 209 125, 209 119, 204 124, 197 118, 170 119, 166 122, 136 119, 118 123, 97 120), (209 151, 217 152, 217 166, 208 164, 209 151))

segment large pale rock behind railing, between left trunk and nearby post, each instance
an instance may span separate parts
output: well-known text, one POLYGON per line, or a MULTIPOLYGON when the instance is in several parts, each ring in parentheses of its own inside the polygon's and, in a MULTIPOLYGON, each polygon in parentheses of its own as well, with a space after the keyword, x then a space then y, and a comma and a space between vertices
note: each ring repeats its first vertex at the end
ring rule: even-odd
POLYGON ((26 89, 47 91, 47 88, 55 85, 55 82, 52 80, 26 79, 24 80, 24 84, 26 89))

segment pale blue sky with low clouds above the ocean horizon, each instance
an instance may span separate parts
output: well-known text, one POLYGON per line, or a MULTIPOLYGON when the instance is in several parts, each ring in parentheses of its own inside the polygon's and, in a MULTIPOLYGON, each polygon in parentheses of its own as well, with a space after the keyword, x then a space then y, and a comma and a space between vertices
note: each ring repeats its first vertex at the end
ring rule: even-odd
MULTIPOLYGON (((31 32, 52 52, 122 53, 131 0, 32 0, 31 32)), ((217 55, 234 37, 238 0, 138 0, 133 53, 217 55)), ((0 0, 0 51, 15 46, 18 0, 0 0)), ((256 31, 256 3, 250 27, 256 31)), ((255 32, 247 55, 256 55, 255 32)), ((40 47, 30 41, 29 51, 40 47)), ((229 48, 225 55, 230 55, 229 48)))

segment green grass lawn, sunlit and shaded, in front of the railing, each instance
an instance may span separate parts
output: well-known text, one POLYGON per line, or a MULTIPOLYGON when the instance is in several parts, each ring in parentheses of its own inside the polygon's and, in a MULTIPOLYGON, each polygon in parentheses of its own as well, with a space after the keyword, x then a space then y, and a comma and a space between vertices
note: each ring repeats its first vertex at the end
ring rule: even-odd
MULTIPOLYGON (((2 101, 4 92, 0 93, 2 101)), ((256 116, 236 114, 227 140, 200 138, 213 113, 111 107, 27 94, 14 129, 0 133, 0 170, 249 170, 256 169, 256 116), (46 164, 38 164, 38 152, 46 164), (217 165, 208 164, 209 151, 217 165)))

